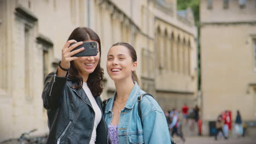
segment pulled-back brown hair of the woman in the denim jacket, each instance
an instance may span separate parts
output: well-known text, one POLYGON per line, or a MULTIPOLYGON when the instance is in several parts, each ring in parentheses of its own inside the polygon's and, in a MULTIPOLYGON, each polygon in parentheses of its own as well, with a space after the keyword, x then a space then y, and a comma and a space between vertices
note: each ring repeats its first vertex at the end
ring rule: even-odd
MULTIPOLYGON (((113 44, 112 47, 117 46, 117 45, 125 46, 130 51, 130 56, 132 58, 132 62, 137 62, 137 53, 136 53, 135 49, 130 44, 120 42, 120 43, 113 44)), ((132 71, 132 81, 136 81, 137 83, 139 82, 138 76, 137 76, 135 70, 132 71)))

